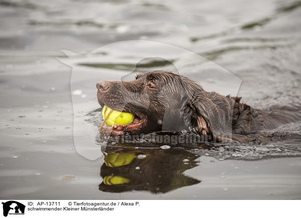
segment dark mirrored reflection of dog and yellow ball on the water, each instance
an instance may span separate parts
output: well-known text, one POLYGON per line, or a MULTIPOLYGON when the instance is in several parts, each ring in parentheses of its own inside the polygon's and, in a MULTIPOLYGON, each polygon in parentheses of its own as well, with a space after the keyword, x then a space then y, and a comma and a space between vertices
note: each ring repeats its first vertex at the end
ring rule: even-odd
POLYGON ((183 174, 198 164, 196 155, 183 149, 113 148, 106 147, 99 190, 124 192, 146 190, 168 192, 200 181, 183 174), (142 158, 141 158, 142 157, 142 158))

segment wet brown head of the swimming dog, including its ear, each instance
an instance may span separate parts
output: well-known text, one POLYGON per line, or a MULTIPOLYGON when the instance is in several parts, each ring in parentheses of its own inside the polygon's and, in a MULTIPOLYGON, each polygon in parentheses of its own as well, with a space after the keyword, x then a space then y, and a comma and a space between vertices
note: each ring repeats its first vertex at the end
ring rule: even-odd
POLYGON ((102 107, 135 116, 132 124, 104 127, 106 133, 188 130, 222 137, 231 131, 231 101, 173 72, 147 72, 126 82, 100 81, 96 87, 102 107))

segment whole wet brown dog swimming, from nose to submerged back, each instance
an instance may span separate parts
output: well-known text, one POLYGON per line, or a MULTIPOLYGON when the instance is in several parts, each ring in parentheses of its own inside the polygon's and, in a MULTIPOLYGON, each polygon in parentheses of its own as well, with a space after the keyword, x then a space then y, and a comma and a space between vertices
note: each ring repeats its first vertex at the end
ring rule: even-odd
POLYGON ((105 126, 102 133, 132 135, 160 131, 194 131, 217 141, 245 141, 247 135, 301 119, 299 108, 273 106, 268 111, 206 92, 194 81, 168 71, 139 74, 134 81, 100 81, 97 100, 101 106, 135 115, 136 122, 105 126))

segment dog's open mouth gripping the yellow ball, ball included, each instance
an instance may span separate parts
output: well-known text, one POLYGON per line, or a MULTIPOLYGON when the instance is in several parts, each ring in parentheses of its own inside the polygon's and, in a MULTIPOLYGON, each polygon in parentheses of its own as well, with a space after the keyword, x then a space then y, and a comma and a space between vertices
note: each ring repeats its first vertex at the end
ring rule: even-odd
POLYGON ((114 108, 111 109, 105 105, 103 107, 103 119, 104 121, 99 127, 99 131, 104 135, 122 135, 125 132, 136 130, 145 120, 134 113, 124 110, 114 110, 114 108), (130 116, 130 118, 128 116, 130 116))

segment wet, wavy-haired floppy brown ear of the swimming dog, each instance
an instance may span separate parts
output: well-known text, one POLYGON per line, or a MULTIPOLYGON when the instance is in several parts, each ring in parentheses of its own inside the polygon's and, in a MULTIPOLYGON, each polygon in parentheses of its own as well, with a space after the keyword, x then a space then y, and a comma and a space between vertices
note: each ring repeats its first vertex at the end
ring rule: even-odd
POLYGON ((235 102, 216 92, 206 92, 197 83, 183 79, 185 98, 181 102, 181 111, 186 126, 195 129, 201 135, 211 135, 221 142, 248 141, 249 139, 232 135, 232 117, 235 102))

